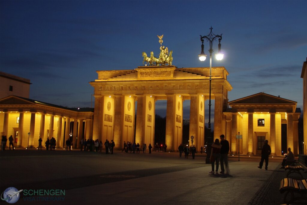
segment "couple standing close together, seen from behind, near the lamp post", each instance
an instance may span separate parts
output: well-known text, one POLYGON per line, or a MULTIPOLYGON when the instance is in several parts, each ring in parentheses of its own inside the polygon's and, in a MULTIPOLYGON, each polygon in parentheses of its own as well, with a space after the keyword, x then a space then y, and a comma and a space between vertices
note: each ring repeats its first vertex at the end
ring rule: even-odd
POLYGON ((211 156, 210 156, 210 163, 212 166, 212 171, 209 173, 214 174, 214 163, 216 162, 216 171, 215 173, 218 174, 219 170, 219 162, 221 161, 221 174, 225 174, 224 163, 226 167, 226 174, 229 174, 229 166, 228 166, 228 152, 229 152, 229 142, 225 140, 225 136, 221 135, 220 139, 216 139, 211 146, 211 156))

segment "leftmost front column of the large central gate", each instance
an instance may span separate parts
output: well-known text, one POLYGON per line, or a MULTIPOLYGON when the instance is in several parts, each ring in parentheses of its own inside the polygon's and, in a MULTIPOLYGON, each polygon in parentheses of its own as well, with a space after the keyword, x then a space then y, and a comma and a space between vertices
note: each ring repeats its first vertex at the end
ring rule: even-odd
POLYGON ((93 122, 93 139, 102 140, 102 112, 103 112, 103 96, 95 95, 94 122, 93 122))

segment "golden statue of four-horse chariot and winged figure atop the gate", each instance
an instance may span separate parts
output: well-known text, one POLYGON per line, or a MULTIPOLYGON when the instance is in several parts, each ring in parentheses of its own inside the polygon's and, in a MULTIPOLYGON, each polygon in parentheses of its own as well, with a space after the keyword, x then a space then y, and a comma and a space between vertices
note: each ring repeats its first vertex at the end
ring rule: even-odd
POLYGON ((167 47, 165 48, 164 46, 162 46, 163 34, 161 36, 157 35, 157 37, 159 38, 159 43, 161 44, 159 58, 156 58, 153 56, 153 51, 150 52, 150 57, 148 57, 147 54, 143 52, 142 53, 142 56, 144 57, 143 65, 144 65, 144 62, 147 62, 150 66, 154 66, 154 65, 158 66, 158 65, 165 65, 165 64, 172 65, 173 51, 171 50, 169 52, 169 49, 167 47))

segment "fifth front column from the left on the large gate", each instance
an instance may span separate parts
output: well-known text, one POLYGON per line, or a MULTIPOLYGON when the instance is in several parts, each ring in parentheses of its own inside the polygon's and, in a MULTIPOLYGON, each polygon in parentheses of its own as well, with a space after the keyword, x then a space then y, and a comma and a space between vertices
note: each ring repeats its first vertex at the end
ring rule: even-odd
MULTIPOLYGON (((198 139, 198 96, 191 96, 190 100, 190 126, 189 126, 189 146, 192 145, 191 136, 194 136, 194 140, 198 139)), ((196 142, 194 141, 194 144, 196 142)), ((198 145, 199 146, 199 145, 198 145)))

